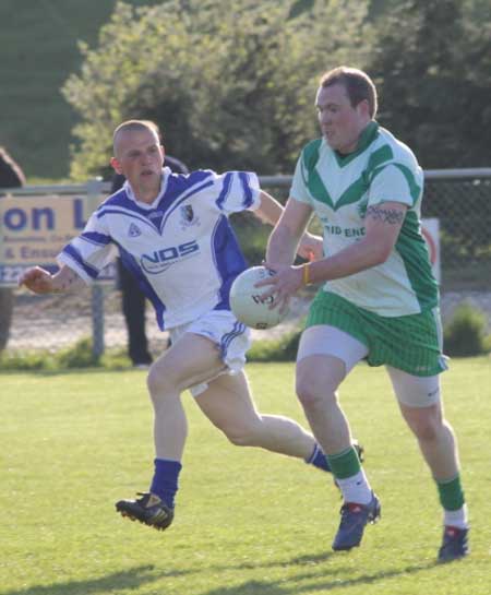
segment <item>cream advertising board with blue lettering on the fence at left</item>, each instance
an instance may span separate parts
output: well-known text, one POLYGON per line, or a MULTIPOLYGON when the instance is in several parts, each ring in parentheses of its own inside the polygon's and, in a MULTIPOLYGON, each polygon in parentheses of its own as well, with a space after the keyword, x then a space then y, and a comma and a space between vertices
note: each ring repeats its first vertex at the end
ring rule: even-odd
POLYGON ((83 197, 0 198, 0 285, 15 285, 24 269, 57 269, 62 248, 86 223, 83 197))

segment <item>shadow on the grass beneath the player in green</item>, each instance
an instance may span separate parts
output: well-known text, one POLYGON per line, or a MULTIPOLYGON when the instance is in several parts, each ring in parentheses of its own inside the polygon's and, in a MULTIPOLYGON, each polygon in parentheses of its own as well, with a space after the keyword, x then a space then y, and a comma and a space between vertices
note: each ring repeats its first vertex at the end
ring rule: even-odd
POLYGON ((244 564, 240 568, 272 568, 287 566, 308 566, 312 564, 311 572, 304 572, 290 576, 288 579, 277 581, 248 581, 241 585, 233 587, 219 587, 212 591, 203 592, 201 595, 300 595, 301 593, 326 593, 328 591, 343 590, 356 585, 370 585, 379 581, 387 579, 396 579, 397 576, 416 574, 438 567, 438 562, 428 562, 424 564, 405 567, 398 570, 387 570, 374 572, 372 574, 362 574, 355 579, 343 579, 339 575, 349 576, 352 573, 352 568, 326 569, 319 567, 319 562, 323 562, 334 556, 333 552, 327 552, 321 556, 301 556, 292 558, 288 562, 276 562, 267 564, 244 564), (325 580, 326 575, 331 580, 325 580), (334 578, 335 576, 335 578, 334 578), (321 580, 321 581, 319 581, 321 580), (307 584, 308 581, 308 584, 307 584), (303 583, 303 584, 302 584, 303 583))

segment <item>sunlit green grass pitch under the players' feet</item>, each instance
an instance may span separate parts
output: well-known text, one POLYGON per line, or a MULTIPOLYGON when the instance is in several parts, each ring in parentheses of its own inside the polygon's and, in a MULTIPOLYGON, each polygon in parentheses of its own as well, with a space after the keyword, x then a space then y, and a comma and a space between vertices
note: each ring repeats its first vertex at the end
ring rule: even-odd
MULTIPOLYGON (((303 415, 290 364, 249 366, 264 412, 303 415)), ((239 449, 185 395, 190 435, 172 527, 122 520, 113 502, 145 489, 152 416, 145 374, 3 373, 1 595, 489 595, 491 360, 443 376, 471 511, 471 556, 434 563, 435 488, 381 369, 357 369, 343 403, 383 502, 363 547, 334 555, 339 497, 295 460, 239 449)))

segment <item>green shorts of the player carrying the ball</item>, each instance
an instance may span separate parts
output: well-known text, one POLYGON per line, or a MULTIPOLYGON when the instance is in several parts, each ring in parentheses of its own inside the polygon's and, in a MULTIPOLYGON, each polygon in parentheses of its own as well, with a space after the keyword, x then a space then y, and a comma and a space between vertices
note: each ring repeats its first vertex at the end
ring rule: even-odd
POLYGON ((336 326, 363 343, 369 366, 387 365, 414 376, 434 376, 447 369, 438 308, 381 317, 321 289, 307 319, 307 328, 316 324, 336 326))

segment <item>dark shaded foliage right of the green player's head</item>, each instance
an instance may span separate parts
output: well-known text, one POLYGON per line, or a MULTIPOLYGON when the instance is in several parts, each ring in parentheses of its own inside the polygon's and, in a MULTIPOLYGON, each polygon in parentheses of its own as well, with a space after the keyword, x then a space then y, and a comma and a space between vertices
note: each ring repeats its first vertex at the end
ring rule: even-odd
POLYGON ((426 168, 489 166, 491 8, 406 0, 378 23, 379 118, 426 168))

